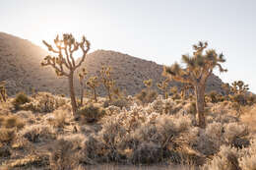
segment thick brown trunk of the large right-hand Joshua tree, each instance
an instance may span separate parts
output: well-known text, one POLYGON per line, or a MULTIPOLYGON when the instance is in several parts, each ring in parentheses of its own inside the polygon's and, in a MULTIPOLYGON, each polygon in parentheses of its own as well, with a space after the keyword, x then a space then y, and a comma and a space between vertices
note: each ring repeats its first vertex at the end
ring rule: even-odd
POLYGON ((198 125, 201 128, 206 127, 205 120, 205 85, 196 85, 195 93, 196 93, 196 109, 197 109, 197 118, 198 125))

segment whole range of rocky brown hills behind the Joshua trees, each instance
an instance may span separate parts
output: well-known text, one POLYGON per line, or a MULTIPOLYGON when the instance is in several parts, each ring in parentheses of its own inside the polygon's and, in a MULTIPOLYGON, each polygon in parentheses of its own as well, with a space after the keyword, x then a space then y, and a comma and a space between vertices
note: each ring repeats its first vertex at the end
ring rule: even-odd
MULTIPOLYGON (((41 67, 40 62, 47 54, 45 50, 7 33, 0 32, 0 81, 6 81, 9 95, 18 91, 39 91, 68 94, 67 81, 57 78, 50 67, 41 67)), ((162 66, 114 51, 96 50, 88 55, 85 67, 90 75, 98 75, 101 65, 111 66, 116 84, 128 94, 139 92, 145 86, 144 80, 153 79, 155 88, 161 77, 162 66)), ((78 80, 76 80, 78 86, 78 80)), ((207 90, 221 91, 222 80, 216 76, 209 79, 207 90)), ((170 85, 178 85, 171 83, 170 85)), ((79 90, 79 88, 77 88, 79 90)), ((102 86, 98 87, 104 94, 102 86)))

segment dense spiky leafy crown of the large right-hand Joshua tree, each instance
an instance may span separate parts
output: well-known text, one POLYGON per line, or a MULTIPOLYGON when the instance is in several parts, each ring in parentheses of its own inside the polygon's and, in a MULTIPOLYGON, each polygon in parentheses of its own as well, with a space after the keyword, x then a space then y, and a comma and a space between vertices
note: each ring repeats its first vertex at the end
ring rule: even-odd
POLYGON ((163 75, 170 76, 177 82, 196 85, 205 84, 216 67, 220 72, 226 72, 221 65, 225 62, 223 53, 217 54, 214 49, 206 50, 207 46, 207 42, 201 41, 193 45, 193 56, 182 55, 182 62, 186 67, 183 69, 179 64, 174 63, 170 67, 163 68, 163 75))

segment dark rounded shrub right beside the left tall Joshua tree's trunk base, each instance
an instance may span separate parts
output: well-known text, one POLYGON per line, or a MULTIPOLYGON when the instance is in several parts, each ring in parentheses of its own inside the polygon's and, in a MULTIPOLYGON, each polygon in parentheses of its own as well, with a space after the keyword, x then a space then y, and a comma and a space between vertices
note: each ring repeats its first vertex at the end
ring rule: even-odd
POLYGON ((78 115, 87 123, 94 123, 105 115, 105 110, 98 104, 87 104, 80 108, 78 115))

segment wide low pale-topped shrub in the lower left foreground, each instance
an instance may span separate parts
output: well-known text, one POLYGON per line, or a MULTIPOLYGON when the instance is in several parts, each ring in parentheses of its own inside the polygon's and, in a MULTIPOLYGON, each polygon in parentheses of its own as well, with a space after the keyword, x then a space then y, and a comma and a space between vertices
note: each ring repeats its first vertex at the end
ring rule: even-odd
POLYGON ((44 142, 56 138, 56 132, 49 125, 27 126, 20 132, 20 135, 30 142, 44 142))

